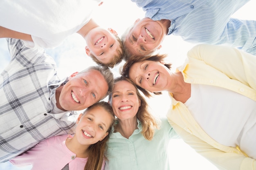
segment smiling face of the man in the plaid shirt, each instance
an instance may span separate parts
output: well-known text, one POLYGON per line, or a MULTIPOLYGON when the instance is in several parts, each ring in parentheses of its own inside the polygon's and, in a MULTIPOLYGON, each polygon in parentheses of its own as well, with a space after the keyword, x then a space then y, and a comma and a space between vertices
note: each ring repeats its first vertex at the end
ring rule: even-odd
POLYGON ((102 99, 108 92, 108 83, 97 70, 73 73, 63 86, 59 104, 64 110, 83 110, 102 99))

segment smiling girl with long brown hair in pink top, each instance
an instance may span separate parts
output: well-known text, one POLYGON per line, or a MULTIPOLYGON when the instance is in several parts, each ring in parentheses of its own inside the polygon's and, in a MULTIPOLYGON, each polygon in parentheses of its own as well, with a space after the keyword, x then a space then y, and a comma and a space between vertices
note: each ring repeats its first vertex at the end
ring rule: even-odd
POLYGON ((97 102, 79 115, 73 136, 50 137, 10 162, 32 165, 31 170, 104 170, 104 152, 114 119, 112 107, 97 102))

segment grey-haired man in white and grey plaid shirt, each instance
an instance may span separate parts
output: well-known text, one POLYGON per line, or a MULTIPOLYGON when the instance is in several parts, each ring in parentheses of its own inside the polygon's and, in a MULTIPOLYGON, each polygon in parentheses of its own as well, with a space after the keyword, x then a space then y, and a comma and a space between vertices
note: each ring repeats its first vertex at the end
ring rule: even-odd
POLYGON ((0 76, 0 162, 20 155, 43 139, 73 134, 76 111, 112 91, 109 68, 91 66, 60 80, 44 49, 7 39, 11 61, 0 76))

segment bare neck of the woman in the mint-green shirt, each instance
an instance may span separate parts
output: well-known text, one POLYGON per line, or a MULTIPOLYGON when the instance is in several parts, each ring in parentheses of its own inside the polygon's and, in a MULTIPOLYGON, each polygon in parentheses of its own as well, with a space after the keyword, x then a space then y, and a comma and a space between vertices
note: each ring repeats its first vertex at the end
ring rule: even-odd
POLYGON ((115 126, 114 132, 119 132, 123 137, 128 139, 137 128, 137 117, 133 117, 132 119, 127 120, 118 119, 118 124, 115 126))

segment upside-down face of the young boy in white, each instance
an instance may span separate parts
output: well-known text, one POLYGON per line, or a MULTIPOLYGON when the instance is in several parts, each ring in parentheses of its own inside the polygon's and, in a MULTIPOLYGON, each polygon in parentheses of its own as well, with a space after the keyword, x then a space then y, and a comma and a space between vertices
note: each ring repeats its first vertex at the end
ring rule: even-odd
POLYGON ((120 43, 118 42, 116 31, 113 29, 103 29, 97 27, 92 29, 86 36, 85 51, 88 56, 94 55, 99 62, 109 64, 114 55, 118 55, 118 50, 121 51, 120 43))

